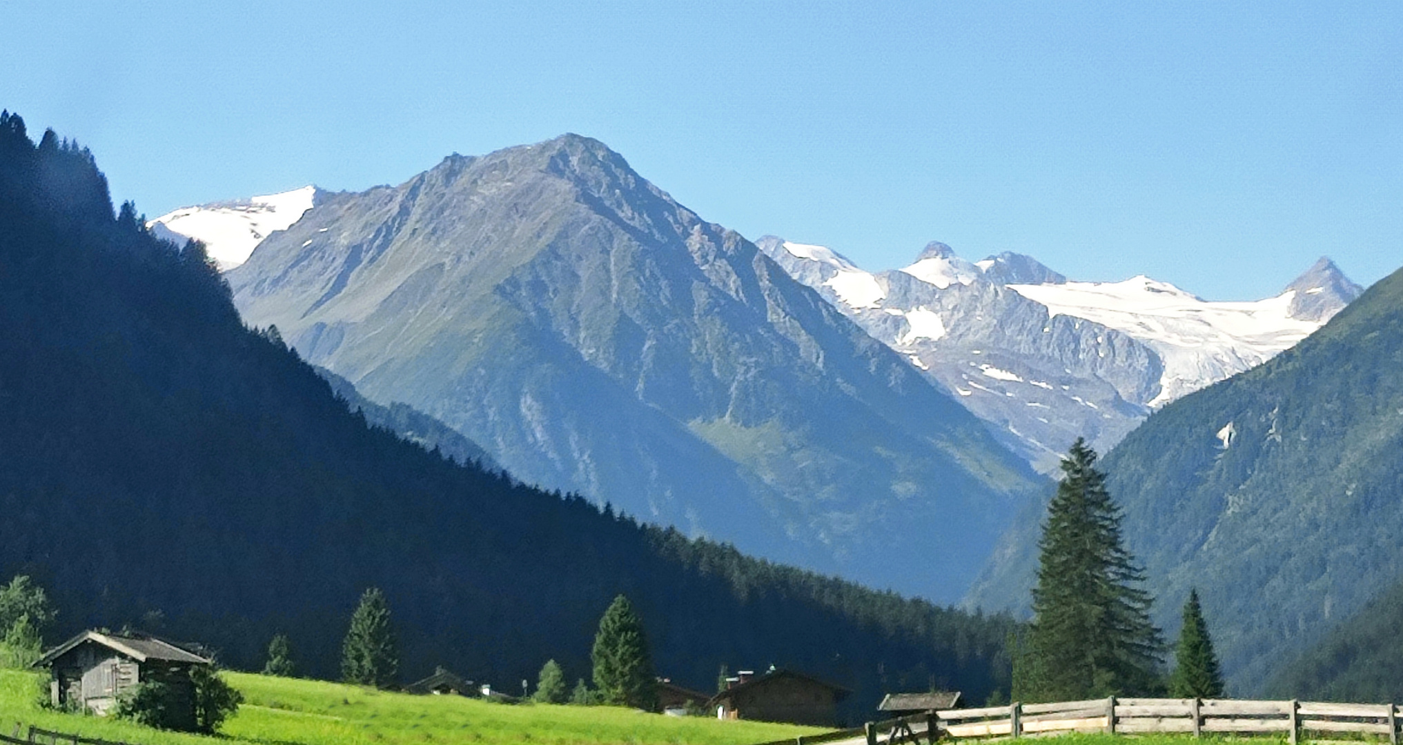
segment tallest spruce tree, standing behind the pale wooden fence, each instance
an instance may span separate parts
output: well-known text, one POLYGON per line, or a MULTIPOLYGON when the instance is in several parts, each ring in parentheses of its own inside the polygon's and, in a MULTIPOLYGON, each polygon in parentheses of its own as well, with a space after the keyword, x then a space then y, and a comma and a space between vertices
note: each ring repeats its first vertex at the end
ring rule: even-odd
POLYGON ((1048 505, 1020 650, 1014 697, 1024 702, 1149 694, 1160 687, 1163 640, 1149 620, 1143 570, 1121 542, 1121 514, 1080 438, 1062 459, 1048 505))

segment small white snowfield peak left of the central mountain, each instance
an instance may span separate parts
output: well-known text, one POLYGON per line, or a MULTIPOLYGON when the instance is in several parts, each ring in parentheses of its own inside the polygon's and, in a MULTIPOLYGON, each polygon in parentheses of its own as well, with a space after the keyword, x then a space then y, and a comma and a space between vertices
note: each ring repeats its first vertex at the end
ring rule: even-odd
POLYGON ((248 199, 180 208, 146 226, 159 234, 173 234, 166 237, 203 243, 219 269, 229 271, 247 261, 269 233, 286 230, 300 220, 316 198, 316 187, 302 187, 248 199))

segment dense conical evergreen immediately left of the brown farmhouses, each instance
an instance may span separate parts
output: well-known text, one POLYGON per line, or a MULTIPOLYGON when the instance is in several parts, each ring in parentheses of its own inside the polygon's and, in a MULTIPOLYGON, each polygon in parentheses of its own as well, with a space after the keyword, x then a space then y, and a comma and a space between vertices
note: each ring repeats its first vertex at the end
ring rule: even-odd
POLYGON ((602 703, 652 710, 657 707, 657 676, 643 620, 633 603, 619 595, 599 619, 595 648, 595 689, 602 703))

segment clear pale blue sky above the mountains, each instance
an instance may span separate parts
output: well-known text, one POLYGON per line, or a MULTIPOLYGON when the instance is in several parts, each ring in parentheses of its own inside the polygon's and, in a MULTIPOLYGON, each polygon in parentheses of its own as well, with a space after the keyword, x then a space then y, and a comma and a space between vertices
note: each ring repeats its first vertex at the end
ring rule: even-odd
POLYGON ((1397 1, 0 0, 0 70, 150 216, 578 132, 868 269, 941 240, 1249 299, 1403 265, 1397 1))

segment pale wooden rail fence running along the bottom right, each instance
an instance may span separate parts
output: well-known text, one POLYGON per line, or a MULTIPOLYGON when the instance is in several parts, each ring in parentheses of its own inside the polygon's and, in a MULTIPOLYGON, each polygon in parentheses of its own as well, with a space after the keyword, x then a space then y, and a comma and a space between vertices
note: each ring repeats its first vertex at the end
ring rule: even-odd
MULTIPOLYGON (((1003 739, 1063 732, 1281 734, 1295 745, 1312 734, 1374 735, 1399 745, 1395 704, 1249 702, 1230 699, 1092 699, 1047 704, 948 709, 867 723, 765 745, 901 745, 922 739, 1003 739)), ((60 745, 60 744, 55 744, 60 745)))

